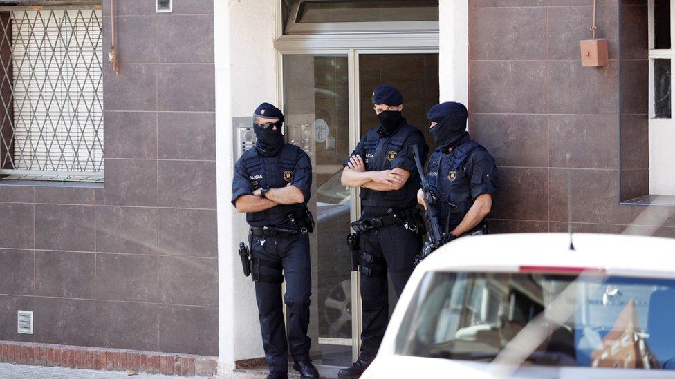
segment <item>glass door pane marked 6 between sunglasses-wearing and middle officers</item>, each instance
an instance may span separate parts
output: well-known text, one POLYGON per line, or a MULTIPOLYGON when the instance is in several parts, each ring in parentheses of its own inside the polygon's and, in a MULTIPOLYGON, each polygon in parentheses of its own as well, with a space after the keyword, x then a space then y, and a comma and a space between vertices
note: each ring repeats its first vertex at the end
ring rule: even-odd
POLYGON ((311 211, 312 358, 348 365, 352 358, 351 263, 346 246, 351 197, 340 184, 349 155, 347 55, 284 55, 286 137, 313 166, 311 211))

